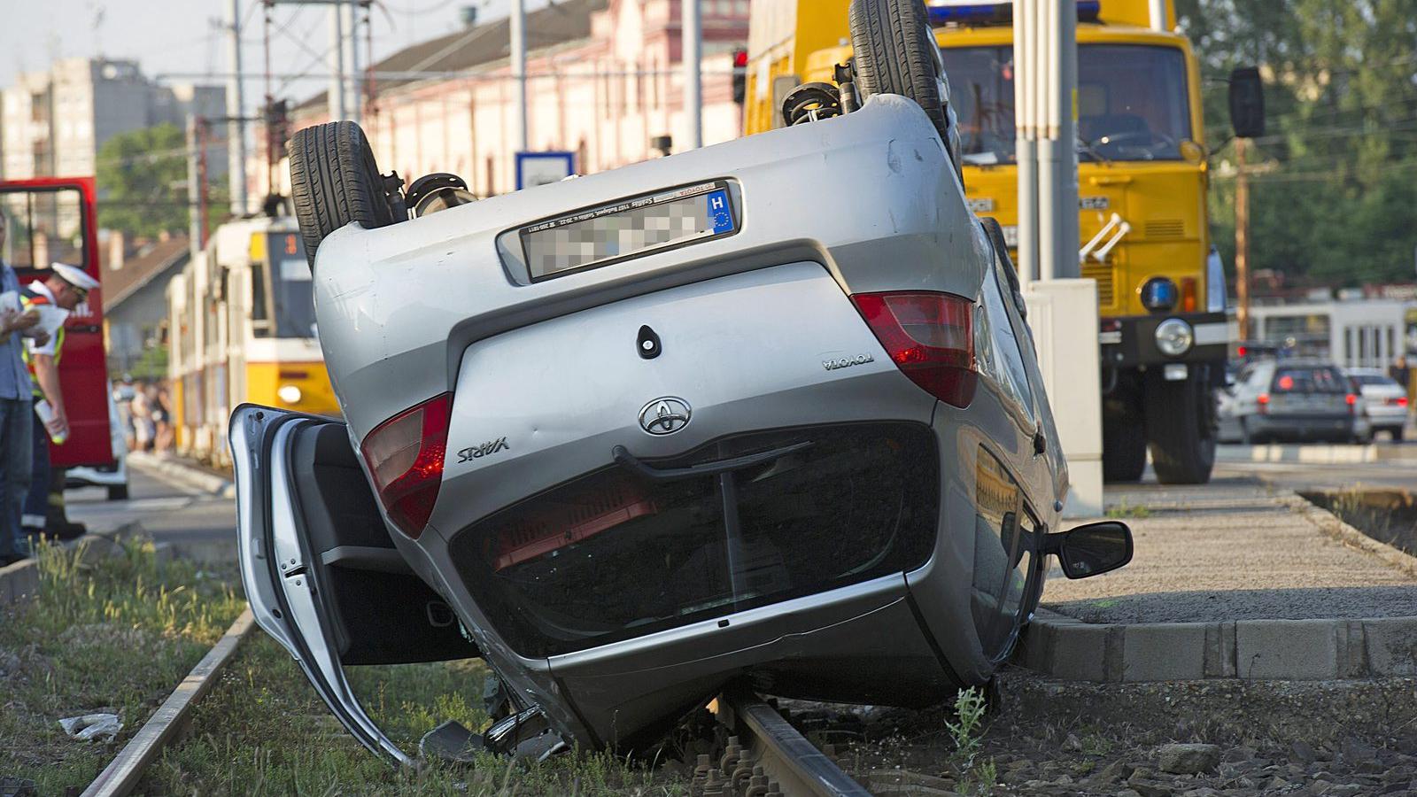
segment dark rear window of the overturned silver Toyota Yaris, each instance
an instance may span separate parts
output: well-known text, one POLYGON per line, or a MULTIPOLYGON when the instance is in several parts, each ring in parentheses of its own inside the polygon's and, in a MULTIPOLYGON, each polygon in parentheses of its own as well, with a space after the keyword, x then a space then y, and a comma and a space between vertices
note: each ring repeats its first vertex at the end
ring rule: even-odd
POLYGON ((476 523, 452 539, 449 553, 497 631, 527 657, 924 564, 935 536, 939 469, 928 427, 740 435, 653 467, 684 468, 803 441, 812 445, 728 476, 666 482, 604 469, 476 523))

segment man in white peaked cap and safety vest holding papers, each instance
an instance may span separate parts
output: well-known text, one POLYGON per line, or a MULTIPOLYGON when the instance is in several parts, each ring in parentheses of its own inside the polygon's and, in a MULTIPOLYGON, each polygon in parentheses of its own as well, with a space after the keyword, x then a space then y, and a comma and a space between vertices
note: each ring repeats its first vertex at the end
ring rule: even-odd
MULTIPOLYGON (((57 262, 51 267, 47 279, 43 282, 35 279, 20 291, 20 301, 26 311, 44 306, 72 311, 95 288, 98 288, 98 279, 89 277, 82 268, 57 262)), ((30 478, 30 495, 24 499, 24 513, 20 516, 26 532, 50 533, 60 539, 84 533, 81 525, 62 520, 64 494, 60 492, 57 503, 50 498, 50 440, 58 444, 69 435, 69 420, 64 413, 64 391, 60 387, 60 357, 62 355, 62 323, 55 328, 50 340, 43 345, 30 340, 26 349, 26 363, 30 366, 35 401, 34 474, 30 478), (43 413, 41 400, 48 403, 48 413, 43 413), (45 414, 48 417, 44 417, 45 414), (55 503, 52 509, 51 503, 55 503), (60 528, 54 528, 57 523, 60 528)), ((64 489, 62 485, 60 489, 64 489)))

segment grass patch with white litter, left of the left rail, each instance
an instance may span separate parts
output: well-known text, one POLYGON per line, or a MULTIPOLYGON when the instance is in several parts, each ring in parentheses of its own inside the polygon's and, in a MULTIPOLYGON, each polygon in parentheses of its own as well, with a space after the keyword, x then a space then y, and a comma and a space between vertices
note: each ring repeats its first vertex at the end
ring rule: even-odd
POLYGON ((0 610, 0 774, 41 794, 88 786, 245 606, 234 569, 159 564, 150 540, 85 547, 41 546, 37 596, 0 610), (123 722, 115 742, 64 735, 94 712, 123 722))

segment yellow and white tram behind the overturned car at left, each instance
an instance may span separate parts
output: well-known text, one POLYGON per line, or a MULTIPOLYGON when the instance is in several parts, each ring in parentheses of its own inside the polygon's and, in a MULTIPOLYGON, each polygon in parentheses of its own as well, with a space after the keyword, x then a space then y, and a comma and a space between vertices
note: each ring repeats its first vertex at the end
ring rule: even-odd
POLYGON ((227 418, 244 401, 337 414, 315 330, 310 267, 293 218, 217 228, 173 278, 169 376, 177 451, 230 462, 227 418))

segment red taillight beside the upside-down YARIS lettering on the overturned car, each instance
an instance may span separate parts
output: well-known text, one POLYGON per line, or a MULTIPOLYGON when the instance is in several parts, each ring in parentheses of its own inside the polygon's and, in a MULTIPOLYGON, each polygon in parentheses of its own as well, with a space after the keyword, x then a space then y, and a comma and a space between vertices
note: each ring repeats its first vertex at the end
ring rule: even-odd
POLYGON ((364 435, 360 451, 388 519, 412 539, 438 501, 452 393, 410 407, 364 435))

